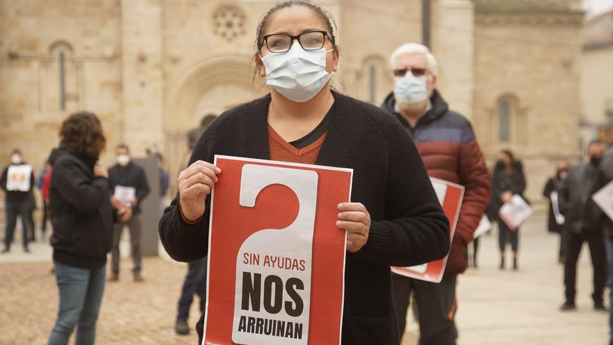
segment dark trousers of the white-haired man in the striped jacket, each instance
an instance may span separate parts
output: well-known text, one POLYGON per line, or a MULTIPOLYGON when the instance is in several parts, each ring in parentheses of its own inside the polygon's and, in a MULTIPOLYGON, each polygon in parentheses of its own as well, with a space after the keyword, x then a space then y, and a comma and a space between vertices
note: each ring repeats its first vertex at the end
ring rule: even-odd
POLYGON ((458 275, 448 273, 439 284, 391 275, 391 291, 398 324, 398 334, 404 335, 407 309, 414 294, 419 314, 419 345, 454 345, 458 330, 455 314, 456 280, 458 275))

